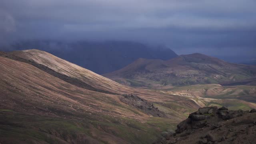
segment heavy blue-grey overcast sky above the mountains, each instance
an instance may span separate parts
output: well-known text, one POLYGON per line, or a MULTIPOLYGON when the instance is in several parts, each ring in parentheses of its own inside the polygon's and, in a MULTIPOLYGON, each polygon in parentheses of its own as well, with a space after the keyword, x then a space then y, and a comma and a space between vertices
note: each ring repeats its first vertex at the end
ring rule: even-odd
POLYGON ((0 42, 127 40, 255 58, 256 0, 0 0, 0 42))

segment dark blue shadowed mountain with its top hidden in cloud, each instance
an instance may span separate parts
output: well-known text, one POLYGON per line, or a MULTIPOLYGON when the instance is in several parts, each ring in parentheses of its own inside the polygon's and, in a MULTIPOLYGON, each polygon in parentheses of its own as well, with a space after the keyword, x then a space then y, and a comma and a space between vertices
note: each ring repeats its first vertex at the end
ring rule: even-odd
MULTIPOLYGON (((177 54, 164 46, 150 47, 138 42, 26 41, 13 50, 40 49, 98 74, 119 70, 138 58, 168 60, 177 54)), ((11 49, 11 48, 9 48, 11 49)))

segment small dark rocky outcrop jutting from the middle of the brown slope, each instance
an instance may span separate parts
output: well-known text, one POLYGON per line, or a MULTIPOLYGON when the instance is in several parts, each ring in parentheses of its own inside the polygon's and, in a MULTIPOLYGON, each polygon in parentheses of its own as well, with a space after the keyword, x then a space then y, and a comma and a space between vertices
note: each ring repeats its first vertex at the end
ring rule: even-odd
POLYGON ((144 100, 137 95, 134 94, 123 94, 120 97, 120 100, 130 106, 134 106, 146 114, 149 114, 151 116, 157 116, 157 117, 166 117, 166 115, 158 110, 158 108, 155 108, 152 102, 148 102, 147 100, 144 100))

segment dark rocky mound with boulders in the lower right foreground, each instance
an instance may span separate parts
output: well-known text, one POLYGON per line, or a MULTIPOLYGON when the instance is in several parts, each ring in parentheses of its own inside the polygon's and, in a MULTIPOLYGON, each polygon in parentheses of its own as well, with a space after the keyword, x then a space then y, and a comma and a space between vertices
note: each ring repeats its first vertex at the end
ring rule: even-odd
POLYGON ((256 110, 204 107, 154 144, 255 144, 256 110))

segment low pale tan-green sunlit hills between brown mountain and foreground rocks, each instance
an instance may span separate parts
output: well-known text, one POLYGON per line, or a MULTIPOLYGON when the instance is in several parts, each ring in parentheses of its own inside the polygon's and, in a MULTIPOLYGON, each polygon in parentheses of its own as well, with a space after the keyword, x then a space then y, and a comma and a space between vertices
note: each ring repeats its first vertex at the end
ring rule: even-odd
MULTIPOLYGON (((216 106, 220 106, 221 104, 218 104, 217 101, 214 102, 212 99, 224 101, 226 99, 236 99, 256 103, 256 86, 221 86, 220 84, 195 84, 191 86, 180 86, 157 91, 164 94, 174 94, 177 96, 190 97, 191 99, 197 100, 198 105, 202 104, 202 106, 209 105, 201 101, 202 99, 204 101, 208 99, 211 101, 211 104, 216 106)), ((233 102, 232 104, 235 105, 235 103, 237 102, 233 102)), ((230 104, 225 106, 230 107, 230 104)), ((247 106, 240 103, 237 104, 236 108, 237 107, 240 109, 246 109, 247 106)))

